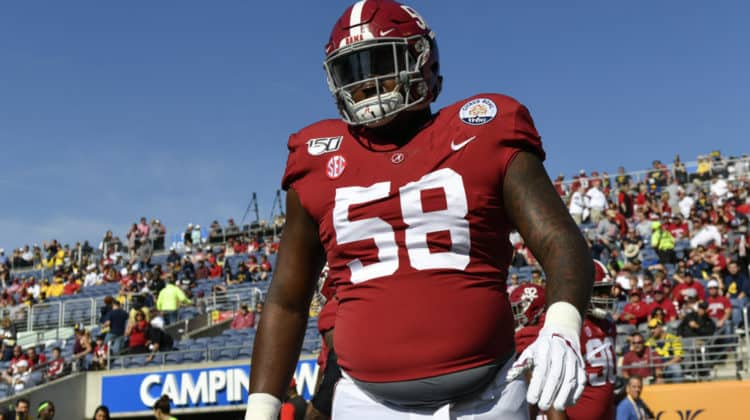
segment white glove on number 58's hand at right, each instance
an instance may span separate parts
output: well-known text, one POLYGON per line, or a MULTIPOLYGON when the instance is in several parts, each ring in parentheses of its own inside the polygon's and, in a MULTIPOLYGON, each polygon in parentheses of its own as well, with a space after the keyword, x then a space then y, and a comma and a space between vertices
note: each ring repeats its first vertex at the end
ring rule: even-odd
POLYGON ((564 410, 578 401, 586 385, 580 334, 581 315, 575 306, 567 302, 550 305, 539 337, 508 371, 511 381, 532 369, 526 393, 529 404, 540 410, 564 410))

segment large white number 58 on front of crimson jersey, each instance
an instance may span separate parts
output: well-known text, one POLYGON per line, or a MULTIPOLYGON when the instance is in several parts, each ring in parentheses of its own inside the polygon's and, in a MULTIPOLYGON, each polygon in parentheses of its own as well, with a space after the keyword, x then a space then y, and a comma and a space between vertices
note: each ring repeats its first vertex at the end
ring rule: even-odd
MULTIPOLYGON (((388 276, 398 269, 398 245, 393 227, 379 217, 350 220, 349 207, 356 204, 381 200, 391 191, 389 181, 378 182, 369 187, 344 187, 336 189, 333 208, 333 227, 336 241, 346 244, 372 239, 378 249, 378 262, 363 265, 359 259, 347 265, 352 272, 351 282, 361 283, 388 276)), ((409 262, 417 270, 452 268, 463 270, 469 265, 469 221, 466 220, 468 205, 463 178, 454 170, 444 168, 431 172, 418 181, 410 182, 398 190, 401 215, 407 225, 405 230, 406 250, 409 262), (421 193, 424 190, 442 189, 446 208, 424 211, 421 193), (448 231, 451 247, 443 252, 431 252, 427 234, 448 231)))

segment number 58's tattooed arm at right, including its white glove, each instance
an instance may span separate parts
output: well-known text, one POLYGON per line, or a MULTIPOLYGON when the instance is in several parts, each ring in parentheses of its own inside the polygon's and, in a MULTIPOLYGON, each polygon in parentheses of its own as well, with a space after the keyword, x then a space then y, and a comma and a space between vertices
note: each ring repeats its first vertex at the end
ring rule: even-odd
POLYGON ((509 374, 533 366, 526 395, 541 410, 573 405, 586 382, 580 331, 594 282, 591 254, 534 154, 520 151, 503 181, 506 215, 547 274, 547 315, 539 337, 509 374))

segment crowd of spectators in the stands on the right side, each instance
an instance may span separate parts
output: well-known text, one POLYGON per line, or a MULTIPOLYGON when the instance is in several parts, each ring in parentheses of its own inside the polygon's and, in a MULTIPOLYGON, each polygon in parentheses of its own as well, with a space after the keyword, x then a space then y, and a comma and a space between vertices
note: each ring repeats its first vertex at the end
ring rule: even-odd
MULTIPOLYGON (((748 307, 750 159, 719 152, 694 172, 676 157, 642 173, 581 170, 554 181, 592 255, 615 280, 614 319, 624 338, 623 373, 656 382, 682 380, 686 349, 726 344, 742 333, 748 307)), ((541 271, 518 235, 512 265, 541 271)), ((512 271, 509 287, 518 284, 512 271)), ((708 374, 705 366, 698 374, 708 374)), ((695 369, 694 372, 695 373, 695 369)))

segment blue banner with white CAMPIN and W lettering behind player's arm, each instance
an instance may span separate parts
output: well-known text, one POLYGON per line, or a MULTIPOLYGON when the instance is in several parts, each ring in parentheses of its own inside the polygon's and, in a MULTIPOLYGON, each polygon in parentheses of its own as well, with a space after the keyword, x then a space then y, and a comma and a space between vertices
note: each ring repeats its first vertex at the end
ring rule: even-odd
MULTIPOLYGON (((309 399, 315 389, 315 359, 300 360, 294 373, 297 392, 309 399)), ((202 369, 173 369, 102 377, 101 401, 112 414, 151 412, 162 395, 173 408, 243 406, 250 385, 247 363, 215 365, 202 369)))

